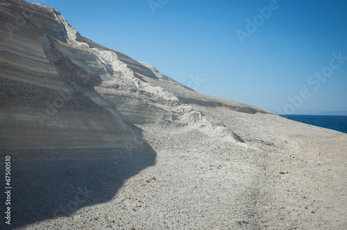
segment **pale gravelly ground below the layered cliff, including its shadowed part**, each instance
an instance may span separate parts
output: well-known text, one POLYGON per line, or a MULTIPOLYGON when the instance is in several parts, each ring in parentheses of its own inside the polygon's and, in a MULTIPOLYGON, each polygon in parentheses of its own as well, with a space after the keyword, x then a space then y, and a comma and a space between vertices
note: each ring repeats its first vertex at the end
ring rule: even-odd
MULTIPOLYGON (((253 122, 260 118, 282 120, 253 122)), ((131 152, 8 152, 14 227, 344 229, 347 135, 284 119, 281 126, 277 136, 264 126, 264 139, 253 128, 247 147, 146 124, 137 125, 145 143, 131 152)))

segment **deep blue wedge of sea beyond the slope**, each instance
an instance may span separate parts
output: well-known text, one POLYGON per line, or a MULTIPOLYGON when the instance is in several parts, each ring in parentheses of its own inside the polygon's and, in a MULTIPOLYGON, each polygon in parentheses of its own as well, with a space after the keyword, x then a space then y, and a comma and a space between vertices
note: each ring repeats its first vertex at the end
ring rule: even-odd
POLYGON ((347 134, 347 116, 330 115, 280 115, 293 121, 325 127, 347 134))

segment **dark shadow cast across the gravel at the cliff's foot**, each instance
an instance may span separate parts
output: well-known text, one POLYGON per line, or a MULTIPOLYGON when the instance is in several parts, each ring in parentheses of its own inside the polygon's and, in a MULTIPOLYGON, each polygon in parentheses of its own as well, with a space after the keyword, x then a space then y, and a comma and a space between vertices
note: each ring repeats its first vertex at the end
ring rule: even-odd
MULTIPOLYGON (((124 180, 155 162, 147 145, 135 149, 1 151, 1 175, 11 157, 11 226, 72 215, 78 209, 112 200, 124 180)), ((3 187, 4 188, 4 187, 3 187)), ((1 193, 1 202, 6 200, 1 193)), ((4 213, 5 205, 1 205, 4 213)))

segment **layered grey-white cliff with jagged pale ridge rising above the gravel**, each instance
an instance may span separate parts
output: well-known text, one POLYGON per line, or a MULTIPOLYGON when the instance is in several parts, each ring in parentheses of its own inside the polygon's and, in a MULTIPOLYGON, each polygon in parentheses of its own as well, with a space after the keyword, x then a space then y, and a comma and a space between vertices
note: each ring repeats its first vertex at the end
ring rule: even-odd
POLYGON ((195 98, 178 98, 195 93, 192 89, 164 76, 150 64, 82 37, 53 8, 10 2, 1 21, 1 84, 3 89, 13 85, 16 94, 32 94, 33 100, 23 103, 16 100, 20 97, 17 95, 1 101, 4 123, 19 122, 14 114, 31 118, 20 121, 25 123, 20 129, 31 132, 17 130, 21 133, 17 136, 10 126, 1 129, 1 134, 10 140, 1 142, 3 148, 116 147, 134 139, 124 122, 194 124, 192 128, 203 127, 207 134, 242 141, 228 127, 217 127, 194 107, 185 105, 185 100, 190 104, 195 98), (25 7, 33 13, 21 26, 16 24, 19 16, 15 9, 25 7), (8 28, 16 29, 6 31, 8 28), (105 117, 95 116, 98 111, 105 117), (71 130, 65 132, 66 127, 71 130), (92 135, 94 131, 97 134, 92 135), (56 137, 49 136, 51 133, 56 137), (19 139, 28 141, 20 147, 13 145, 19 139))

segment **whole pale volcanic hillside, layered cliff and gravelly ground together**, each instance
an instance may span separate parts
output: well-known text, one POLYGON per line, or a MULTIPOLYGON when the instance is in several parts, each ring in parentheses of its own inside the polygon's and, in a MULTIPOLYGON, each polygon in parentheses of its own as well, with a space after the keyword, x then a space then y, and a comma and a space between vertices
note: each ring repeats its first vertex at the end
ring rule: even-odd
POLYGON ((199 94, 40 4, 0 0, 0 52, 12 227, 347 224, 346 134, 199 94))

